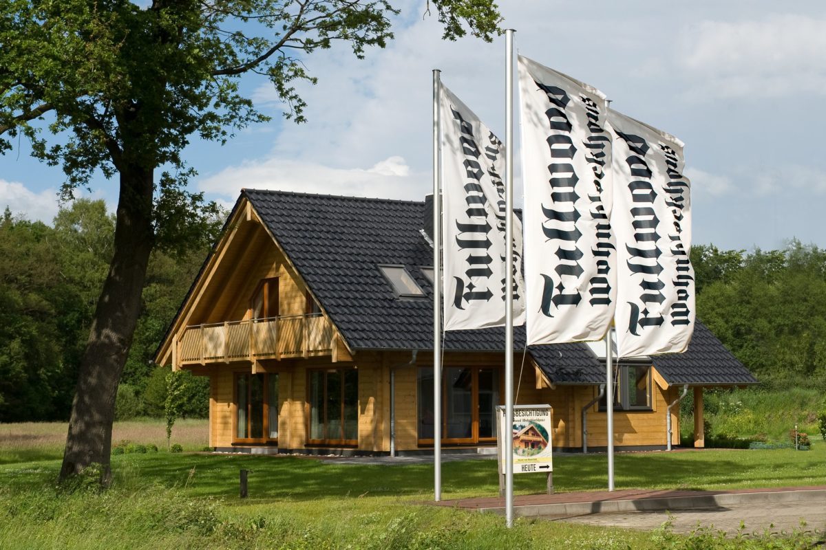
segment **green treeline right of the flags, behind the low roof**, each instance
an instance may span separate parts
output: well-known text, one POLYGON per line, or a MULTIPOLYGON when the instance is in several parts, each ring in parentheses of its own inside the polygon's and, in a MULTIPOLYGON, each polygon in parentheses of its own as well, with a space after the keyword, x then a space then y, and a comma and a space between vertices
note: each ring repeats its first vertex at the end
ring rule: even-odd
POLYGON ((691 248, 697 315, 761 382, 826 388, 826 250, 691 248))

